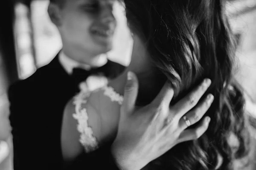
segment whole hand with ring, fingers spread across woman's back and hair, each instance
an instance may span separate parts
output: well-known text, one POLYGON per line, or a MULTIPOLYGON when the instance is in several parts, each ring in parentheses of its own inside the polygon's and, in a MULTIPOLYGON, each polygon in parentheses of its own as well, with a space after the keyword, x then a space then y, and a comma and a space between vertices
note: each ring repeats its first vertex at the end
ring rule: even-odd
POLYGON ((210 84, 211 81, 205 79, 190 94, 169 107, 174 91, 166 83, 150 105, 135 109, 138 80, 135 74, 128 73, 118 133, 111 148, 119 168, 139 170, 176 144, 198 139, 208 128, 210 118, 200 119, 214 97, 209 94, 203 102, 197 103, 210 84), (197 127, 186 129, 198 121, 197 127))

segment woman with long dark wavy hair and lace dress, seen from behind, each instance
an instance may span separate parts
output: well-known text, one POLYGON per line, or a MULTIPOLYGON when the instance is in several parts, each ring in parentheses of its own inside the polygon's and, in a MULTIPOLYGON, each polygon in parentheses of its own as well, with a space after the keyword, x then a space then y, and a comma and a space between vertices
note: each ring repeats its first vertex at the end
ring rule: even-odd
POLYGON ((67 104, 64 158, 113 142, 127 73, 132 71, 140 82, 138 108, 151 103, 165 82, 174 89, 173 106, 204 78, 212 81, 207 93, 214 101, 205 114, 211 118, 206 133, 177 144, 151 161, 148 169, 233 169, 236 159, 247 156, 249 133, 244 97, 233 77, 233 35, 224 15, 225 1, 124 0, 124 4, 134 39, 131 63, 108 86, 92 93, 81 91, 67 104))

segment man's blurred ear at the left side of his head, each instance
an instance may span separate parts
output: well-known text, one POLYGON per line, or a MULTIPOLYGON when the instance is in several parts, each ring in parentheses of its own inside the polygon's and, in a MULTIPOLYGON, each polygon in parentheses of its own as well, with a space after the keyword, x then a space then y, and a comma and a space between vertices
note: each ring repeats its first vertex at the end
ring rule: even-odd
POLYGON ((52 23, 54 23, 57 27, 61 26, 61 11, 57 4, 49 3, 48 14, 52 23))

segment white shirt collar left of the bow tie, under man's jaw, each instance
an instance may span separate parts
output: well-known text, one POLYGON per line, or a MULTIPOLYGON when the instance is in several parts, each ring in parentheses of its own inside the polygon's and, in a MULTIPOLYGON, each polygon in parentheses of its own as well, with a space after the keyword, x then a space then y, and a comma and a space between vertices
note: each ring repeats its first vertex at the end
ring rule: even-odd
POLYGON ((76 60, 64 54, 62 50, 59 53, 59 62, 61 63, 62 67, 67 72, 67 74, 72 74, 73 68, 84 68, 87 71, 91 69, 90 65, 81 64, 80 62, 77 62, 76 60))

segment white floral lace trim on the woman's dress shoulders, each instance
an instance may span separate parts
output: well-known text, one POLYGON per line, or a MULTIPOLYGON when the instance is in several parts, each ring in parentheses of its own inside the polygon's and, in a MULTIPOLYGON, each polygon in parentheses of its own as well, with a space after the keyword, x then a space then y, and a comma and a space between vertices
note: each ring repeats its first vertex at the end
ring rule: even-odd
MULTIPOLYGON (((103 87, 104 95, 108 96, 112 102, 118 102, 119 105, 123 102, 123 97, 116 93, 112 87, 103 87)), ((76 113, 73 114, 73 118, 78 121, 77 130, 80 133, 79 142, 83 145, 84 150, 88 153, 96 150, 99 147, 99 143, 95 136, 93 136, 93 130, 88 125, 88 113, 86 108, 82 108, 82 104, 87 103, 87 99, 90 96, 90 92, 81 91, 74 97, 73 105, 75 105, 76 113)))

